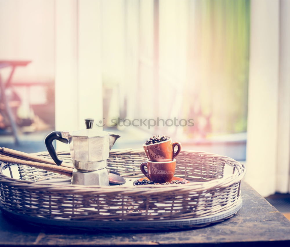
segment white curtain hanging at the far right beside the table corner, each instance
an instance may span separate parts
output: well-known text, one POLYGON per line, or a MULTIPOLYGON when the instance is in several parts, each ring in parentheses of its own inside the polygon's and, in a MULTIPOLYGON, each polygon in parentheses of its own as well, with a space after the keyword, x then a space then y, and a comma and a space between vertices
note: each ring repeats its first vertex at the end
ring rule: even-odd
POLYGON ((247 175, 261 195, 289 192, 290 1, 252 0, 247 175))

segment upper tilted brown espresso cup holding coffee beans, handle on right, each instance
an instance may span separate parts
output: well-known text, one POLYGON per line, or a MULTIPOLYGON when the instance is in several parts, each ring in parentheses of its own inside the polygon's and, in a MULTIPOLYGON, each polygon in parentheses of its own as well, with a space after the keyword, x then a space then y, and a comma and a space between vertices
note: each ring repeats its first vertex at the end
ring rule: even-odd
POLYGON ((171 138, 165 142, 158 142, 154 144, 143 144, 143 148, 148 160, 151 161, 171 161, 181 151, 180 142, 173 142, 171 138), (174 148, 177 146, 177 151, 174 148))

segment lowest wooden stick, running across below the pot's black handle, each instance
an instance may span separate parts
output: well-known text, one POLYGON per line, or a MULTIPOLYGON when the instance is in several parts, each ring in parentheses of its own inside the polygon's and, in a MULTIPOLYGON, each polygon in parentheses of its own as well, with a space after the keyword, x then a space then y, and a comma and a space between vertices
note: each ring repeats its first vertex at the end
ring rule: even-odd
POLYGON ((44 163, 39 163, 39 162, 34 162, 34 161, 20 160, 20 159, 16 159, 16 158, 7 157, 7 156, 1 155, 1 154, 0 154, 0 161, 35 167, 35 168, 43 169, 46 171, 60 173, 60 174, 63 174, 63 175, 69 176, 69 177, 71 177, 72 173, 73 173, 72 168, 60 167, 57 165, 44 164, 44 163))

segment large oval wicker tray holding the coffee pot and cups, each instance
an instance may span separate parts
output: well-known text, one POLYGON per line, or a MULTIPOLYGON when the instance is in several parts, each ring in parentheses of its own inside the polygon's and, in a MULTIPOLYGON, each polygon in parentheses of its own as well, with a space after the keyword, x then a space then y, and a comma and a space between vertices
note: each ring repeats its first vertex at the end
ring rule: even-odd
MULTIPOLYGON (((49 157, 47 152, 37 154, 49 157)), ((69 153, 58 155, 71 162, 69 153)), ((176 158, 175 176, 194 182, 133 187, 133 178, 142 177, 139 165, 144 160, 143 149, 111 151, 108 167, 132 178, 132 185, 110 187, 54 184, 52 178, 67 177, 22 165, 17 180, 2 173, 12 164, 2 163, 1 208, 10 217, 22 215, 34 224, 91 230, 116 223, 115 228, 122 230, 132 221, 142 221, 136 224, 140 229, 204 226, 233 216, 242 205, 240 182, 245 168, 229 157, 183 150, 176 158)))

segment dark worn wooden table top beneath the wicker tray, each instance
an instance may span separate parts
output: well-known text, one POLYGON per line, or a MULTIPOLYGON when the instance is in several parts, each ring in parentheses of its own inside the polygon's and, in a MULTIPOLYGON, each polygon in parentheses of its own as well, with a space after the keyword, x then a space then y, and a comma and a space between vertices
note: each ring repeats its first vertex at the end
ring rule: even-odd
POLYGON ((167 232, 81 233, 44 230, 0 213, 1 246, 290 246, 290 222, 248 184, 231 219, 205 228, 167 232))

